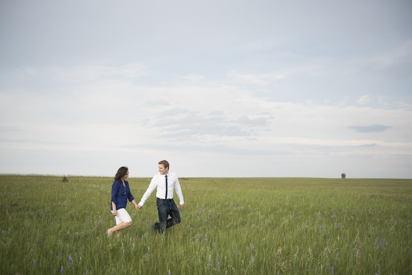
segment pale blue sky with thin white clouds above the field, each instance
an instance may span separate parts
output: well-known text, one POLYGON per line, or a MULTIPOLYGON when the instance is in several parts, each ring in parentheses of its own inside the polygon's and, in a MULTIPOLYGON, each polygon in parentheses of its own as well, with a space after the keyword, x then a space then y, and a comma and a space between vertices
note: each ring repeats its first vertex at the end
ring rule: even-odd
POLYGON ((0 2, 0 173, 412 178, 409 0, 0 2))

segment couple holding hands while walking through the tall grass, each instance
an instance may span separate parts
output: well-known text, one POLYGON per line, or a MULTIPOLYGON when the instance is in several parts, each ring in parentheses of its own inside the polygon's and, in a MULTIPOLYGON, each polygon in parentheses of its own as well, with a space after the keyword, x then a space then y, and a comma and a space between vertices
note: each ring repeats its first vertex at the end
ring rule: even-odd
POLYGON ((155 188, 157 188, 156 205, 159 222, 156 221, 152 225, 153 229, 155 229, 156 233, 163 233, 164 229, 180 223, 179 209, 173 200, 173 189, 176 189, 176 194, 180 200, 179 208, 183 209, 185 204, 179 179, 175 173, 169 172, 169 162, 159 161, 159 174, 152 178, 139 204, 136 203, 130 192, 129 182, 126 181, 128 177, 129 168, 126 166, 122 166, 117 170, 115 181, 112 184, 112 201, 110 203, 110 210, 113 216, 115 216, 116 226, 106 230, 108 237, 115 232, 116 235, 121 235, 123 228, 132 225, 132 219, 126 211, 127 200, 129 199, 136 209, 141 210, 155 188), (169 216, 170 218, 168 219, 169 216))

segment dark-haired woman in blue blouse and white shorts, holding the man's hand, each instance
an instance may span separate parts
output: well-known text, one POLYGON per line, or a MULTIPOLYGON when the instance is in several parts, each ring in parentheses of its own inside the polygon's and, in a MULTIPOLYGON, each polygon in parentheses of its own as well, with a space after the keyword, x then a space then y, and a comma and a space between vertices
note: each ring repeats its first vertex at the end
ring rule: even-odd
POLYGON ((122 235, 122 229, 132 225, 132 220, 126 211, 127 199, 131 201, 137 209, 137 203, 130 193, 129 182, 126 179, 129 177, 129 168, 122 166, 117 170, 115 181, 112 184, 112 202, 110 203, 110 211, 116 219, 116 226, 106 230, 107 236, 110 237, 113 232, 116 235, 122 235))

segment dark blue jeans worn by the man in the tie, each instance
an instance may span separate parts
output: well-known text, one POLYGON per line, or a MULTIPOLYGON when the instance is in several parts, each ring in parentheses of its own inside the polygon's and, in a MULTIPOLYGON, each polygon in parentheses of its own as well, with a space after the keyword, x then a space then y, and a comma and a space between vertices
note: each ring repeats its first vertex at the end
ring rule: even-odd
POLYGON ((153 224, 153 228, 158 233, 163 233, 165 228, 174 226, 182 221, 180 219, 179 208, 173 199, 164 200, 156 198, 157 212, 159 213, 159 222, 153 224), (170 215, 170 219, 168 219, 170 215))

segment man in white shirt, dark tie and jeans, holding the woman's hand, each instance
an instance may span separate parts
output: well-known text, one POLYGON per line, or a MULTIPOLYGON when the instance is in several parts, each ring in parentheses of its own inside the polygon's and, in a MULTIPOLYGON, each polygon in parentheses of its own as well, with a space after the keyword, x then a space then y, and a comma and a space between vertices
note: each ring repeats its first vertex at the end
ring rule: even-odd
POLYGON ((182 189, 180 188, 179 179, 175 173, 169 171, 169 162, 159 161, 159 174, 152 178, 146 192, 143 194, 140 203, 137 205, 138 210, 141 210, 145 201, 150 194, 157 188, 156 205, 159 214, 159 222, 153 224, 156 233, 163 233, 165 228, 169 228, 180 223, 179 209, 173 200, 173 188, 176 189, 176 194, 180 200, 180 209, 183 209, 185 203, 183 201, 182 189), (170 219, 168 219, 170 215, 170 219))

